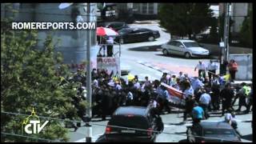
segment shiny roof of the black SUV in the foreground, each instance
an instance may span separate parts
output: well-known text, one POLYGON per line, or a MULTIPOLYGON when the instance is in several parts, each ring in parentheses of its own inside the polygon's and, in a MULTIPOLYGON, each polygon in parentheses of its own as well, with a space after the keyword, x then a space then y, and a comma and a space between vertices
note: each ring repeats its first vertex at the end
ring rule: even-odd
POLYGON ((115 110, 113 115, 136 115, 136 116, 146 116, 148 112, 147 107, 143 106, 120 106, 115 110))

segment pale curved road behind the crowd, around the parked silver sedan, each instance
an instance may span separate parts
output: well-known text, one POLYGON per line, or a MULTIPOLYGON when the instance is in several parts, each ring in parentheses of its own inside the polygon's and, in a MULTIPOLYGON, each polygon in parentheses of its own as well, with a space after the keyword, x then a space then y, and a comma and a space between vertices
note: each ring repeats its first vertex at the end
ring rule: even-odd
MULTIPOLYGON (((162 72, 154 69, 149 70, 148 66, 138 65, 139 62, 146 62, 159 69, 169 70, 170 73, 178 74, 179 71, 184 71, 184 73, 189 73, 191 76, 194 76, 197 74, 197 72, 194 72, 194 66, 197 65, 199 59, 206 63, 210 61, 209 58, 186 59, 174 55, 163 56, 162 52, 159 51, 157 47, 154 48, 154 46, 168 42, 170 40, 170 34, 166 33, 158 24, 132 24, 130 26, 146 27, 152 30, 159 30, 160 32, 160 38, 157 38, 154 42, 128 43, 121 46, 121 68, 130 68, 131 74, 138 74, 138 77, 140 75, 149 74, 152 78, 161 78, 162 72)), ((114 51, 117 50, 118 46, 114 46, 114 51)))

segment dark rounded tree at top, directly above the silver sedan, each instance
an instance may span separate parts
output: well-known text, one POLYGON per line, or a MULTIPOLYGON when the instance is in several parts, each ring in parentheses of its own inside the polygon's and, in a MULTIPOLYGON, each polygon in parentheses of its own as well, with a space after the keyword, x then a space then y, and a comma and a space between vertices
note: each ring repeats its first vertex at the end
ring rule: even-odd
POLYGON ((189 38, 210 26, 212 10, 206 3, 164 3, 160 4, 158 18, 171 35, 189 38))

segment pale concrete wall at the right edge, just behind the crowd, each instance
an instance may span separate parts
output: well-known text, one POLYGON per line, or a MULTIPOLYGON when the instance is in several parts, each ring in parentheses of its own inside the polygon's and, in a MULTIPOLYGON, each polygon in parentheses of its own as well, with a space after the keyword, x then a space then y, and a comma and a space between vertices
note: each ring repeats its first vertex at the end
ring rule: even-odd
POLYGON ((253 78, 253 54, 230 54, 230 59, 234 59, 238 63, 236 80, 253 78))

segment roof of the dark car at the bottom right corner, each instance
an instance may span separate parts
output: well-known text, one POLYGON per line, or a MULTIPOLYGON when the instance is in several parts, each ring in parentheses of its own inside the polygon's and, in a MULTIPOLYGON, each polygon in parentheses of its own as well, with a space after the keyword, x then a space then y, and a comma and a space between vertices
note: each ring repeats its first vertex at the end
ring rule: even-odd
POLYGON ((200 122, 202 129, 233 129, 227 122, 200 122))

